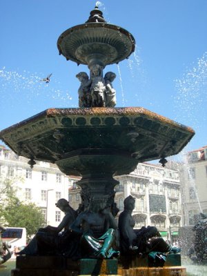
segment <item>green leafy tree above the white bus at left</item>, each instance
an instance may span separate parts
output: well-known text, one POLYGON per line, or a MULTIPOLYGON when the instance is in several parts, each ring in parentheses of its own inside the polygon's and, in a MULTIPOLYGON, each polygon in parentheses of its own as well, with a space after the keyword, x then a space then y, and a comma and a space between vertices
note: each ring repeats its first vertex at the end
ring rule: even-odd
POLYGON ((45 223, 41 209, 31 202, 23 202, 17 197, 18 188, 14 179, 0 182, 0 218, 4 226, 25 227, 30 239, 45 223))

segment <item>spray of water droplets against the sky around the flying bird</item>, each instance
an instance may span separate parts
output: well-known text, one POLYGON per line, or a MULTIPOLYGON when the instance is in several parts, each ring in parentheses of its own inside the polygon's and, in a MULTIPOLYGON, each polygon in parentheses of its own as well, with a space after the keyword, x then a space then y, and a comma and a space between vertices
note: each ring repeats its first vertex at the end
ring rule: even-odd
MULTIPOLYGON (((34 100, 48 101, 52 99, 60 102, 71 100, 70 92, 61 89, 59 81, 54 76, 46 84, 41 79, 41 73, 23 70, 9 71, 5 67, 0 69, 0 100, 9 101, 10 106, 16 106, 21 99, 26 99, 28 105, 33 105, 34 100)), ((64 104, 64 103, 63 103, 64 104)))

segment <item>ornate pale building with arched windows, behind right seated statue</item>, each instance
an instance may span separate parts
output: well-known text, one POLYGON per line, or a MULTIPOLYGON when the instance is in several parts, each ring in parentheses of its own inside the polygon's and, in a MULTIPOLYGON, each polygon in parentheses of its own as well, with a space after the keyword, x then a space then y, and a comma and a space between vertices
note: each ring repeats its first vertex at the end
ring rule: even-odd
MULTIPOLYGON (((115 177, 115 202, 119 208, 116 217, 124 210, 124 199, 132 195, 136 199, 133 217, 135 228, 156 226, 164 239, 177 239, 181 226, 181 193, 179 172, 153 164, 138 164, 130 175, 115 177)), ((70 205, 77 209, 81 203, 81 189, 74 184, 69 190, 70 205)))

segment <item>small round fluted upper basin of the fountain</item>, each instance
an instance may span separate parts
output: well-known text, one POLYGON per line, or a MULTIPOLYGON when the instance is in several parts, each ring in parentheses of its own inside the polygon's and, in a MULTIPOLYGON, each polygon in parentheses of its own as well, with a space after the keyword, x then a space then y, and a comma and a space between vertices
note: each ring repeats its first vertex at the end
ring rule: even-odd
POLYGON ((63 32, 58 41, 59 54, 77 64, 103 68, 128 58, 135 50, 135 39, 124 28, 109 23, 84 23, 63 32))

